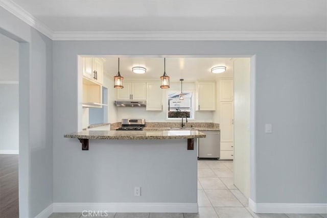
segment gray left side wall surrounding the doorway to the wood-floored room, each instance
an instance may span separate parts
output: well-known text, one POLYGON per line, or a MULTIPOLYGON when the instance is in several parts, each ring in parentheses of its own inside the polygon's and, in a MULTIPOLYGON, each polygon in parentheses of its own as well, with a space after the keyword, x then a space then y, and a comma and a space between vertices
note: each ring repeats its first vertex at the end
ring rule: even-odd
POLYGON ((52 40, 0 7, 0 33, 19 41, 19 215, 53 202, 52 40))

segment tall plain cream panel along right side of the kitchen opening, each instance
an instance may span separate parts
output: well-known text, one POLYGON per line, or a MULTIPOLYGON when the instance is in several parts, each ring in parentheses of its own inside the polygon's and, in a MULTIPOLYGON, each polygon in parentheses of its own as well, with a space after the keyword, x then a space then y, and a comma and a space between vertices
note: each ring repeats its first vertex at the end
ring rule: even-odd
POLYGON ((234 184, 250 195, 250 59, 234 62, 234 184))

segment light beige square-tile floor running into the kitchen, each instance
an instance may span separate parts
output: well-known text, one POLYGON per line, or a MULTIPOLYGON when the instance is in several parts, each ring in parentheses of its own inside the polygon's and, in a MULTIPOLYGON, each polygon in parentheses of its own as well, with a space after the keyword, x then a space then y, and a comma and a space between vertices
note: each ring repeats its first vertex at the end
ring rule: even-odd
MULTIPOLYGON (((253 213, 233 185, 233 162, 198 161, 199 213, 108 213, 110 218, 327 218, 327 214, 253 213)), ((81 213, 53 213, 51 218, 82 218, 81 213)), ((92 216, 95 217, 95 216, 92 216)), ((99 216, 100 217, 100 216, 99 216)), ((104 217, 104 216, 101 216, 104 217)))

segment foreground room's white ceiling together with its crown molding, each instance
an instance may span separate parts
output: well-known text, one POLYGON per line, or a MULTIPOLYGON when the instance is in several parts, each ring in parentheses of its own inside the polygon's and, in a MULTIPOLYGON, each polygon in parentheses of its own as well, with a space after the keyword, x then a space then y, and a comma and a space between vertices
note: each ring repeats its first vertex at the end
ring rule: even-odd
POLYGON ((1 0, 0 6, 26 17, 36 29, 55 34, 55 40, 67 40, 67 34, 73 33, 75 37, 84 33, 80 38, 84 40, 96 37, 85 32, 200 32, 207 37, 219 33, 236 40, 241 33, 249 40, 276 33, 279 37, 288 33, 288 37, 302 34, 303 39, 312 36, 308 34, 327 38, 326 0, 1 0))

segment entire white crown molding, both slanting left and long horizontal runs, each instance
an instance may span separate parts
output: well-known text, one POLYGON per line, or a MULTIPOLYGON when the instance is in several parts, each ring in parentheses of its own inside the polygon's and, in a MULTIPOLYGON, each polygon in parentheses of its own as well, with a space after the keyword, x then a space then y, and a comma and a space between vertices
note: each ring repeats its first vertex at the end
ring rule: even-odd
POLYGON ((52 40, 327 41, 327 32, 54 32, 11 0, 0 6, 52 40))

